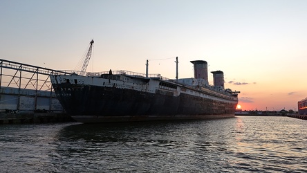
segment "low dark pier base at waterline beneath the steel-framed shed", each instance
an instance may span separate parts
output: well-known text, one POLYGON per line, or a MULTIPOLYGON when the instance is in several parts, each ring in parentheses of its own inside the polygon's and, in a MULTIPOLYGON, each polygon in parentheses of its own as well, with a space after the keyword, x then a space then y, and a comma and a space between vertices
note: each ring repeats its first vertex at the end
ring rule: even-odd
POLYGON ((0 113, 1 124, 37 123, 37 122, 72 122, 67 113, 0 113))

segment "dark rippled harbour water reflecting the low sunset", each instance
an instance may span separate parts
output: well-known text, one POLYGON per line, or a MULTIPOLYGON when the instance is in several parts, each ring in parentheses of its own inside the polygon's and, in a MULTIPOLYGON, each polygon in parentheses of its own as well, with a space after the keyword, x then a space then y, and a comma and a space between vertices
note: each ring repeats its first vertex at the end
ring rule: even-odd
POLYGON ((0 125, 0 172, 307 172, 307 121, 0 125))

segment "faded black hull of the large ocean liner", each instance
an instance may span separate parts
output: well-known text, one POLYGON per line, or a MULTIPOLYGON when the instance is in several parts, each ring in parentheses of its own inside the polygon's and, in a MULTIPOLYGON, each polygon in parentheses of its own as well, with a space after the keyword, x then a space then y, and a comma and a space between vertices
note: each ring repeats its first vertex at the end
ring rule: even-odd
POLYGON ((180 93, 146 93, 132 89, 53 84, 59 102, 80 122, 182 120, 233 117, 236 103, 180 93))

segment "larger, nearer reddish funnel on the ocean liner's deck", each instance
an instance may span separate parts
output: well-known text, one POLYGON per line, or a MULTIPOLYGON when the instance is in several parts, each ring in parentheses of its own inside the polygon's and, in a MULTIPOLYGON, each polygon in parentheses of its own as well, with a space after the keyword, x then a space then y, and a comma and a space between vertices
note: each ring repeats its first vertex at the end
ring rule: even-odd
POLYGON ((208 82, 208 64, 206 61, 197 60, 191 61, 194 64, 194 78, 203 79, 208 82))

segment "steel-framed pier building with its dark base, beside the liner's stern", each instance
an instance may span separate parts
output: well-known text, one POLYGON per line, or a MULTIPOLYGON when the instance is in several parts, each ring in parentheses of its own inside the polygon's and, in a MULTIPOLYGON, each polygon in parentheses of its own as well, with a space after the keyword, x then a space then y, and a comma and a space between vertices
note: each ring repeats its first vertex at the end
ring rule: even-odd
POLYGON ((52 73, 70 74, 0 59, 0 124, 70 120, 53 91, 52 73))

